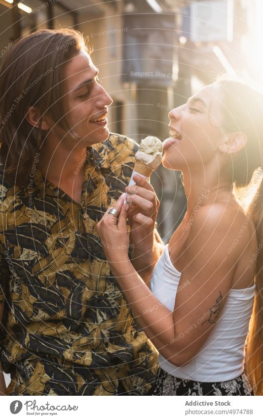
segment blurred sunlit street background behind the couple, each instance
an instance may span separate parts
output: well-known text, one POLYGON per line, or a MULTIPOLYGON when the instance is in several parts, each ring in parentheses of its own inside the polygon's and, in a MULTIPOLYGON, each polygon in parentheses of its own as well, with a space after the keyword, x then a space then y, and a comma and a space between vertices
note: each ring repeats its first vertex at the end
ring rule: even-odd
MULTIPOLYGON (((218 74, 241 72, 261 88, 262 21, 262 0, 0 0, 0 66, 21 36, 78 29, 114 100, 110 130, 138 142, 147 135, 164 140, 168 112, 218 74)), ((185 211, 182 180, 158 168, 151 182, 167 242, 185 211)))

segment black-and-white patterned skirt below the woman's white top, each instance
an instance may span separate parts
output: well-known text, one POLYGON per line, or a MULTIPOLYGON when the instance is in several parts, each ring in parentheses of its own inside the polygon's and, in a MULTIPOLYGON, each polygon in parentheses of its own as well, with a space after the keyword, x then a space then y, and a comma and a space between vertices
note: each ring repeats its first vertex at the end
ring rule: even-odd
POLYGON ((179 379, 159 368, 153 395, 254 395, 244 373, 225 382, 179 379))

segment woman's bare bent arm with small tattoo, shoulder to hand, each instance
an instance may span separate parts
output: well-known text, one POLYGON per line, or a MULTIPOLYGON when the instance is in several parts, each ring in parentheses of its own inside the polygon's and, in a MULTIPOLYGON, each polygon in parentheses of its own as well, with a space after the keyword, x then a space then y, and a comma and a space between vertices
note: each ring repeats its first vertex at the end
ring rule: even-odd
POLYGON ((243 220, 231 211, 225 211, 224 206, 213 205, 199 210, 188 236, 186 267, 171 312, 150 292, 128 258, 125 259, 120 246, 117 246, 117 253, 111 249, 113 244, 121 245, 128 240, 124 220, 123 213, 118 226, 111 215, 99 222, 98 230, 108 244, 105 253, 113 276, 139 326, 155 347, 171 363, 182 366, 198 353, 212 332, 232 285, 237 261, 249 245, 250 235, 244 230, 238 243, 235 241, 243 220), (236 246, 228 254, 232 243, 236 246))

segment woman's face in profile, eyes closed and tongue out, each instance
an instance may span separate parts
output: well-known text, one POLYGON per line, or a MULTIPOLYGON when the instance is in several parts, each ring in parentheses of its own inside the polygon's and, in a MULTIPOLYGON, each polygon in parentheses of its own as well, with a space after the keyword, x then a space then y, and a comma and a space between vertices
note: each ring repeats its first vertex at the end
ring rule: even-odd
POLYGON ((169 113, 170 137, 164 141, 163 166, 191 169, 216 158, 222 139, 225 139, 221 104, 221 87, 213 84, 169 113))

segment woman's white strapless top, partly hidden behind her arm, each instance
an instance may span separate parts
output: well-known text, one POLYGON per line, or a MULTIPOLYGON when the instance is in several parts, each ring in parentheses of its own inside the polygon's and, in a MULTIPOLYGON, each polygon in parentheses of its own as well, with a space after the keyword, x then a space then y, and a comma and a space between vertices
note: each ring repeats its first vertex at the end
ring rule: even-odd
MULTIPOLYGON (((173 266, 166 245, 153 270, 150 284, 152 293, 170 311, 174 310, 180 278, 181 273, 173 266)), ((184 284, 180 284, 178 291, 180 287, 184 284)), ((172 365, 159 354, 161 368, 180 379, 200 382, 227 381, 243 373, 244 347, 255 288, 254 284, 246 289, 230 289, 221 316, 198 354, 182 367, 172 365)))

